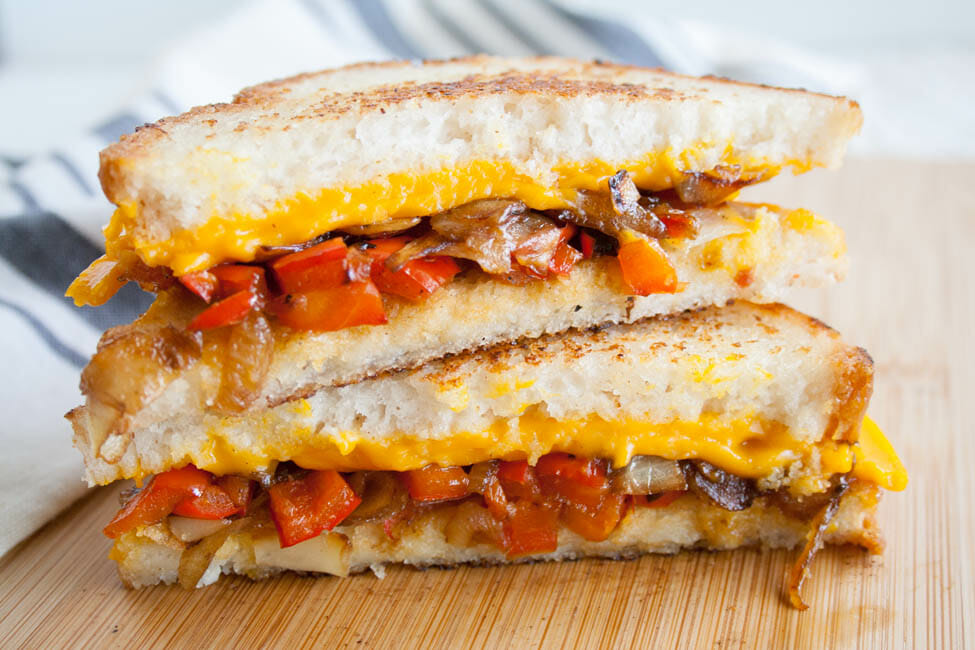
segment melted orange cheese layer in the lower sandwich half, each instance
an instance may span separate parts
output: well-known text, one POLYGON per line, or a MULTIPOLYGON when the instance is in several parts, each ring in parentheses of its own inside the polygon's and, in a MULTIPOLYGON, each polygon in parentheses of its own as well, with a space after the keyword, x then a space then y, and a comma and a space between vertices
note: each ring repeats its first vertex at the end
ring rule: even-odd
POLYGON ((212 432, 210 443, 187 454, 184 462, 215 474, 248 473, 264 469, 274 460, 292 460, 309 469, 405 471, 430 463, 470 465, 491 459, 528 459, 534 464, 551 451, 609 458, 616 467, 635 455, 693 458, 749 478, 766 477, 802 461, 799 478, 808 492, 825 489, 830 476, 851 469, 855 477, 890 490, 902 490, 907 483, 903 465, 869 418, 864 420, 858 443, 816 445, 757 418, 727 422, 706 416, 696 422, 660 424, 608 421, 597 415, 561 421, 534 412, 496 422, 486 431, 439 439, 404 434, 376 440, 351 432, 323 439, 306 430, 263 448, 240 449, 212 432))

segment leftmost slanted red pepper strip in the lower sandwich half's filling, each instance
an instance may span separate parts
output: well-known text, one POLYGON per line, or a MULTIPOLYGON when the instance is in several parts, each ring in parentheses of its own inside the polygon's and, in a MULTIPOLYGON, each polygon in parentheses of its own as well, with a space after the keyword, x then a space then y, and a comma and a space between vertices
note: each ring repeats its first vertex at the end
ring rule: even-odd
POLYGON ((184 499, 203 494, 211 480, 209 472, 192 465, 157 474, 118 511, 103 532, 115 538, 133 528, 158 523, 184 499))

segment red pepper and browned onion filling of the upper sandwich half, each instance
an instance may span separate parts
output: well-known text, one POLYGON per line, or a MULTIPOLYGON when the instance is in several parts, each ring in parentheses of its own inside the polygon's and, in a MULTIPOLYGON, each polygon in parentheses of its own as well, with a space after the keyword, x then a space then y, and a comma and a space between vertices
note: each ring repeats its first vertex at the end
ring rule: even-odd
MULTIPOLYGON (((385 322, 380 293, 419 300, 459 273, 462 265, 477 265, 498 279, 524 284, 565 275, 580 259, 602 254, 618 257, 630 294, 673 293, 680 283, 661 243, 694 238, 708 210, 757 180, 743 179, 730 168, 723 173, 689 174, 674 190, 641 192, 633 175, 620 170, 602 189, 574 190, 571 203, 526 201, 519 198, 524 192, 516 192, 511 198, 480 199, 426 217, 329 221, 335 227, 311 230, 298 241, 254 238, 253 250, 230 257, 254 262, 247 265, 209 266, 210 258, 203 256, 206 261, 193 265, 147 266, 146 256, 110 245, 68 295, 78 304, 98 305, 129 280, 159 291, 178 277, 205 302, 218 301, 191 329, 231 324, 250 309, 267 307, 295 329, 328 331, 385 322), (316 293, 306 295, 311 292, 316 293), (341 310, 344 318, 322 318, 323 312, 336 311, 329 302, 349 301, 356 307, 341 310)), ((270 223, 271 231, 280 230, 270 223)), ((115 232, 123 229, 117 223, 110 226, 109 241, 124 240, 115 232)), ((221 239, 235 238, 226 229, 218 230, 221 239)))

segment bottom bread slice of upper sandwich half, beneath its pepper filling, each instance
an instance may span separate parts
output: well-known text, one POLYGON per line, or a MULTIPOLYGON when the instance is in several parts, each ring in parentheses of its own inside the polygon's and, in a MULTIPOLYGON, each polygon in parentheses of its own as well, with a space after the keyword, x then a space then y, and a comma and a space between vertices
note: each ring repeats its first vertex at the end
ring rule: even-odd
MULTIPOLYGON (((696 239, 667 244, 685 283, 675 294, 626 295, 616 259, 604 257, 578 264, 567 277, 526 286, 471 270, 421 303, 387 298, 385 325, 325 333, 276 326, 267 379, 248 412, 505 341, 733 299, 771 302, 795 284, 822 285, 845 272, 842 234, 809 212, 743 205, 720 212, 735 216, 716 216, 702 223, 696 239)), ((214 408, 225 363, 220 333, 208 335, 202 358, 184 366, 166 343, 167 337, 185 337, 173 333, 182 332, 199 309, 183 292, 166 293, 142 319, 103 337, 83 374, 86 405, 71 419, 78 439, 106 467, 133 431, 164 426, 174 417, 202 422, 225 415, 214 408), (129 397, 133 394, 136 398, 129 397), (114 442, 106 446, 108 438, 114 442)), ((95 476, 112 480, 115 470, 95 476)))

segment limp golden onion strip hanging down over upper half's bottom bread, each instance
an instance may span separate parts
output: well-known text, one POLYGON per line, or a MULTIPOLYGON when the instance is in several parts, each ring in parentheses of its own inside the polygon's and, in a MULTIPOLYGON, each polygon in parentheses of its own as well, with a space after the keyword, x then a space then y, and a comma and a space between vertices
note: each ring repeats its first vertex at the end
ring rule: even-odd
POLYGON ((224 346, 217 406, 230 412, 250 406, 260 394, 273 354, 274 334, 263 315, 251 312, 232 325, 224 346))

